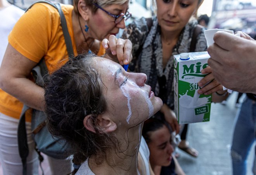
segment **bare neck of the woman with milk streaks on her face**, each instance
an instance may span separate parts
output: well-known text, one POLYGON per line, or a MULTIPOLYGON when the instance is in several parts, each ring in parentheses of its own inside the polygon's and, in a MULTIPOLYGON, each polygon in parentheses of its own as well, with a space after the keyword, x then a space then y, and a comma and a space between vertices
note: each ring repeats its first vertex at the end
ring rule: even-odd
POLYGON ((142 124, 125 132, 117 131, 116 138, 119 144, 116 145, 116 148, 108 151, 107 160, 104 160, 103 163, 97 165, 95 156, 91 156, 88 164, 93 173, 106 175, 141 174, 138 170, 138 151, 142 129, 139 128, 142 128, 142 124))

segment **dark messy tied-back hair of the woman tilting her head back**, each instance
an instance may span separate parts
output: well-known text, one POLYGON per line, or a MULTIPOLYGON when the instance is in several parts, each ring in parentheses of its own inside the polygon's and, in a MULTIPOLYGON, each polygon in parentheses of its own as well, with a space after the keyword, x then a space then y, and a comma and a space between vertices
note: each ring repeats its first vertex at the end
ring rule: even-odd
MULTIPOLYGON (((63 138, 72 147, 73 162, 80 165, 89 156, 96 163, 106 159, 106 152, 115 145, 116 138, 97 126, 97 116, 107 110, 102 94, 104 84, 95 69, 94 54, 83 54, 69 59, 49 76, 45 86, 45 113, 50 133, 63 138), (96 131, 83 125, 87 115, 96 131)), ((74 173, 74 172, 73 172, 74 173)))

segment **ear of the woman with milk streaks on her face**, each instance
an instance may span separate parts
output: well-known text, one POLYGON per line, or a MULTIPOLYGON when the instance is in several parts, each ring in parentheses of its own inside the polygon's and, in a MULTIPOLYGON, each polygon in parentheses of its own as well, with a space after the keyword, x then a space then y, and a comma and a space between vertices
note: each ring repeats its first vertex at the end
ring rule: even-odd
MULTIPOLYGON (((88 131, 92 131, 93 133, 96 133, 95 128, 93 127, 93 123, 91 120, 92 115, 87 115, 83 119, 83 125, 88 131)), ((97 124, 102 129, 102 131, 106 133, 110 133, 112 131, 116 130, 116 123, 112 121, 107 114, 100 114, 97 117, 97 124)))

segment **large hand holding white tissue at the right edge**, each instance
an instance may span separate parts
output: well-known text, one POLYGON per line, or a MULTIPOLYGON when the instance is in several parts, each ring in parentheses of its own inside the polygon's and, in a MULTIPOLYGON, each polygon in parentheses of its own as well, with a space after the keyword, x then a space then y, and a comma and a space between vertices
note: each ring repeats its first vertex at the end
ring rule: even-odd
POLYGON ((208 64, 216 80, 228 89, 255 94, 256 42, 222 31, 213 39, 208 64))

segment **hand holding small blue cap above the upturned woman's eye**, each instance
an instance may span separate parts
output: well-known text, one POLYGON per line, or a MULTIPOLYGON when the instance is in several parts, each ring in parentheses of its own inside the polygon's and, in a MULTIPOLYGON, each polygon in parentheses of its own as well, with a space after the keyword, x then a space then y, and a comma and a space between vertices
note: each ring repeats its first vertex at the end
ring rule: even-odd
POLYGON ((127 65, 132 60, 132 43, 129 39, 117 39, 111 35, 109 39, 102 40, 102 46, 106 49, 106 58, 112 61, 118 61, 120 65, 127 65))

